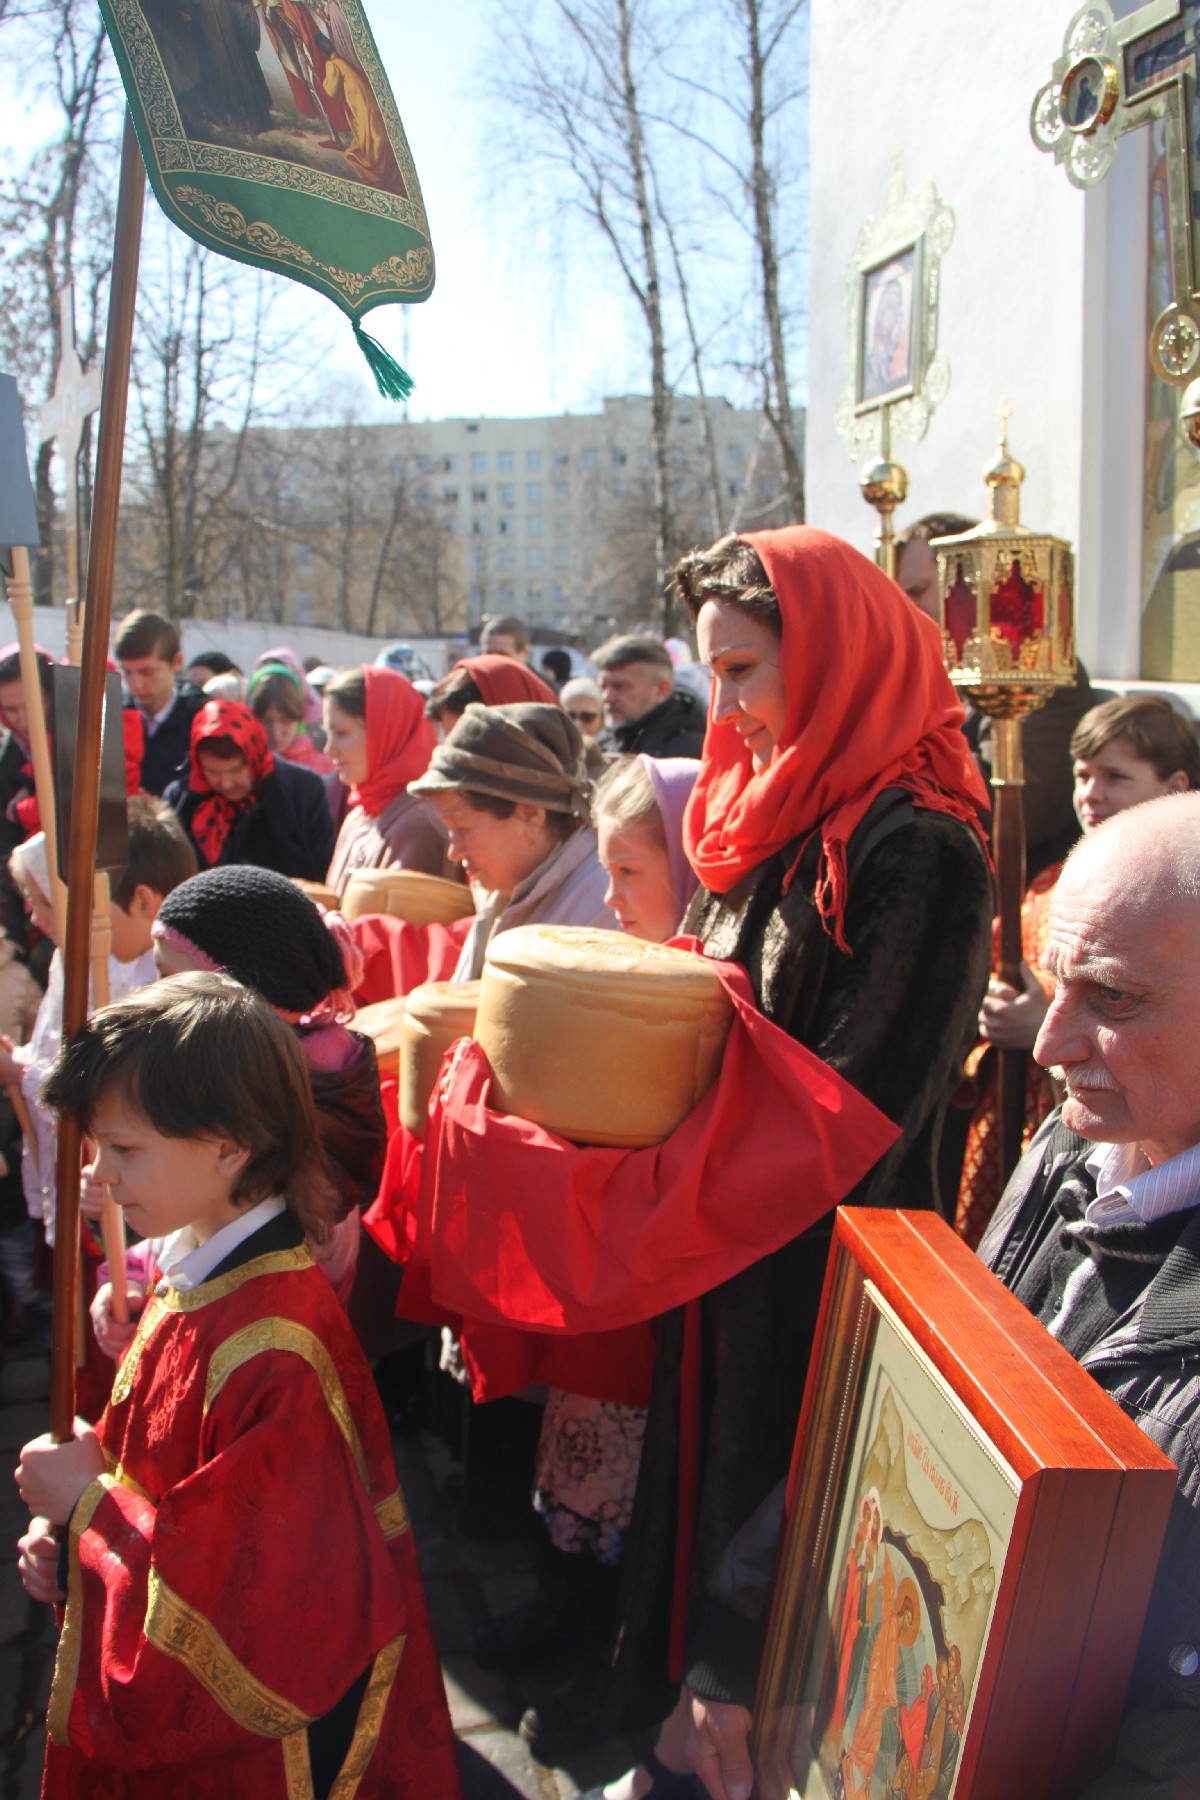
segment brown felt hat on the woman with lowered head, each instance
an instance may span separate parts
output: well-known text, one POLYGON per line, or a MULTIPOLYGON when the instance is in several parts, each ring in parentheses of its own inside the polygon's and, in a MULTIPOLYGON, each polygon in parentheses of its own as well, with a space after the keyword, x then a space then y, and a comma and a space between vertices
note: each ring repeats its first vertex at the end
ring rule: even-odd
POLYGON ((588 819, 583 738, 561 706, 468 706, 410 794, 470 788, 588 819))

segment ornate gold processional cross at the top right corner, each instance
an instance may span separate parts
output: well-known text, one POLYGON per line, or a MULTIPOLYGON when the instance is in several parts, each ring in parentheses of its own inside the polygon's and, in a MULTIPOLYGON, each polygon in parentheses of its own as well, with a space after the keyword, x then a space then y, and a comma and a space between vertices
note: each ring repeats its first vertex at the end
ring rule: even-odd
POLYGON ((1076 187, 1108 175, 1124 131, 1164 121, 1175 299, 1153 324, 1150 360, 1177 385, 1200 374, 1200 153, 1189 128, 1198 76, 1200 0, 1150 0, 1121 20, 1108 0, 1088 0, 1029 121, 1076 187))

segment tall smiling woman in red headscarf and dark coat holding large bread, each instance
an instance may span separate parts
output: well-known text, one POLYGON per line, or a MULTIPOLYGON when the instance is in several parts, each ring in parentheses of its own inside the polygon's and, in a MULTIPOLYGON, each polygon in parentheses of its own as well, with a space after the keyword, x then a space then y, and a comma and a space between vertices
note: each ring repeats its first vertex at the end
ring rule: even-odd
MULTIPOLYGON (((700 877, 689 929, 747 970, 768 1019, 900 1127, 847 1204, 937 1206, 941 1120, 988 979, 991 920, 977 824, 986 794, 937 628, 858 551, 801 526, 721 538, 676 578, 712 670, 684 821, 700 877)), ((754 1143, 745 1192, 752 1206, 754 1143)), ((660 1319, 606 1735, 649 1692, 667 1705, 675 1692, 664 1674, 687 1516, 682 1397, 703 1445, 673 1670, 685 1688, 658 1760, 612 1789, 622 1800, 673 1793, 687 1730, 709 1791, 741 1778, 748 1791, 745 1732, 779 1517, 770 1523, 770 1498, 788 1472, 831 1226, 819 1220, 703 1296, 689 1337, 689 1368, 703 1370, 694 1402, 682 1379, 685 1316, 660 1319), (734 1575, 747 1559, 725 1555, 752 1516, 768 1521, 757 1593, 734 1575)))

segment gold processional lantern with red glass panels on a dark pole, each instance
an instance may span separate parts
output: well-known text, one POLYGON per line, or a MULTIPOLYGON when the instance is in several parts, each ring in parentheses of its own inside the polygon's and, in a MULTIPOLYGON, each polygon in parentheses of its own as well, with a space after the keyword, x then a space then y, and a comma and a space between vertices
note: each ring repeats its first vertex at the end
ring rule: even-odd
MULTIPOLYGON (((1024 763, 1020 722, 1076 679, 1074 558, 1070 545, 1020 522, 1025 472, 1007 446, 984 470, 988 517, 973 531, 934 538, 946 671, 991 718, 991 846, 1000 945, 997 977, 1022 992, 1020 909, 1025 893, 1024 763)), ((1000 1051, 999 1111, 1004 1174, 1020 1156, 1025 1053, 1000 1051)))

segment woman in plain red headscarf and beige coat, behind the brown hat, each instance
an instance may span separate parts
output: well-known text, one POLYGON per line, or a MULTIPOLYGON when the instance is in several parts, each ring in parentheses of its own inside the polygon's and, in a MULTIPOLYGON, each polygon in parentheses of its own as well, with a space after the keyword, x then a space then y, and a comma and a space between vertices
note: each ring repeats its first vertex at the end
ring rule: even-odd
POLYGON ((437 733, 425 700, 398 670, 358 668, 326 688, 326 749, 349 788, 349 812, 333 850, 329 887, 345 893, 354 869, 446 873, 446 833, 408 794, 428 769, 437 733))

